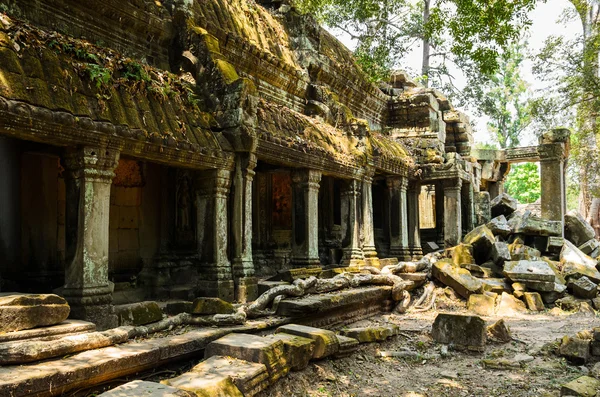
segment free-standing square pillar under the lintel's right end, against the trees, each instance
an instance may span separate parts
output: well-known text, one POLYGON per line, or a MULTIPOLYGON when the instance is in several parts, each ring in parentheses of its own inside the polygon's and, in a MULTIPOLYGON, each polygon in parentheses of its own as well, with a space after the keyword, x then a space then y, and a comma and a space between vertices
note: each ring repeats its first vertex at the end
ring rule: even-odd
POLYGON ((538 153, 542 185, 542 218, 562 222, 566 207, 564 144, 541 144, 538 146, 538 153))

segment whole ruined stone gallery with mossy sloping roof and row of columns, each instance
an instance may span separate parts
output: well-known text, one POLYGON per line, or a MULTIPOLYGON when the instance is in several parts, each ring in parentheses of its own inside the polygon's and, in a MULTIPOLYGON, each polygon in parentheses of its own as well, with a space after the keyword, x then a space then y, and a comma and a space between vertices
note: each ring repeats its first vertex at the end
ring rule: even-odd
MULTIPOLYGON (((308 291, 293 283, 418 261, 514 212, 502 193, 516 162, 541 163, 536 219, 563 235, 568 130, 534 147, 474 150, 470 121, 442 93, 403 72, 371 83, 286 2, 0 0, 0 11, 2 332, 67 316, 85 321, 69 332, 140 325, 128 315, 166 314, 156 302, 189 313, 198 298, 220 300, 194 302, 194 314, 239 304, 247 314, 286 282, 308 291)), ((386 284, 389 295, 400 283, 373 280, 357 285, 386 284)), ((378 293, 368 299, 389 308, 378 293)), ((336 354, 352 345, 302 327, 281 332, 324 351, 335 339, 336 354)), ((121 328, 78 351, 141 332, 121 328)), ((215 355, 234 355, 217 345, 215 355)), ((271 380, 283 371, 267 370, 271 380)), ((81 385, 57 382, 58 393, 81 385)), ((52 395, 14 384, 10 395, 52 395)))

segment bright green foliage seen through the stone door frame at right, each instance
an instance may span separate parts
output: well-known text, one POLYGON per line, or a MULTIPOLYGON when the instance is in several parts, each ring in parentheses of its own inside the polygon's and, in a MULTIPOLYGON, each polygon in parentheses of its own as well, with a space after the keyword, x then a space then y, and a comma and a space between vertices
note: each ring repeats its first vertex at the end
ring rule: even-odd
POLYGON ((508 194, 529 204, 541 196, 540 171, 537 163, 515 164, 506 177, 504 188, 508 194))

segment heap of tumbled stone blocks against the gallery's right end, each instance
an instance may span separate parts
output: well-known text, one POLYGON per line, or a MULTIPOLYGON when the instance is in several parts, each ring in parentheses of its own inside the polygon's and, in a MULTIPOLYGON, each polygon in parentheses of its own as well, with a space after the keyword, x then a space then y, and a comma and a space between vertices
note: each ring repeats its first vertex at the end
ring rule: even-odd
POLYGON ((563 230, 561 222, 517 205, 507 194, 496 197, 494 218, 445 250, 433 264, 433 277, 480 315, 541 311, 552 304, 598 310, 600 242, 594 229, 576 212, 565 215, 563 230))

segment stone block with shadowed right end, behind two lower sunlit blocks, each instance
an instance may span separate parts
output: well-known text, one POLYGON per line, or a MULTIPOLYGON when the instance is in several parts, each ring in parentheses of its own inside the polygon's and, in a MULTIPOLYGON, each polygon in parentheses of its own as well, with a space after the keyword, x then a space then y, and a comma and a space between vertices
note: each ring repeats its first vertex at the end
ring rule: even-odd
POLYGON ((264 364, 271 384, 289 372, 283 342, 256 335, 229 334, 212 341, 206 346, 204 357, 208 359, 212 356, 228 356, 264 364))

